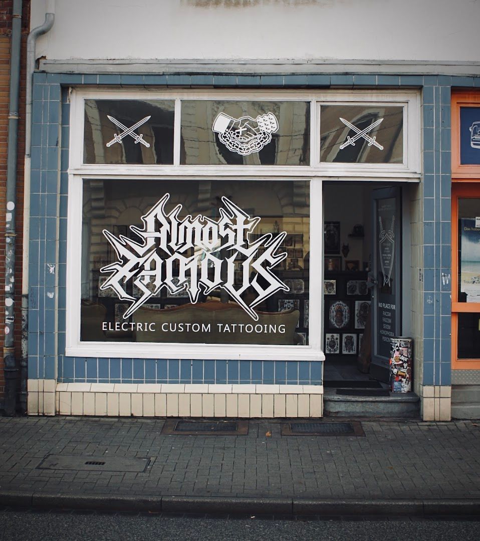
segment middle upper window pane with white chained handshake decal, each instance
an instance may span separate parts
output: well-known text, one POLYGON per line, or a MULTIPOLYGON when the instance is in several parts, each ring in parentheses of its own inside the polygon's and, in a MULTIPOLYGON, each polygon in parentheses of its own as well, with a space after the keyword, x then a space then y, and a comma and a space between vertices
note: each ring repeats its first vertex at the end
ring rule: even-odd
POLYGON ((180 163, 310 165, 310 103, 182 100, 180 163))

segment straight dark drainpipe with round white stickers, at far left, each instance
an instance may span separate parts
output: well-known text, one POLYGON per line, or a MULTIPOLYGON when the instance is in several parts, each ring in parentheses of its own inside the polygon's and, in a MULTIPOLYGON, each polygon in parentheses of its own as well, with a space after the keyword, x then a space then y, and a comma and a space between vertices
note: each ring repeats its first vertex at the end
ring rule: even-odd
POLYGON ((22 37, 22 0, 14 0, 10 47, 10 95, 8 112, 8 150, 6 162, 5 212, 5 340, 3 362, 5 372, 5 415, 16 411, 18 369, 14 348, 15 304, 15 206, 17 202, 18 96, 20 88, 20 49, 22 37))

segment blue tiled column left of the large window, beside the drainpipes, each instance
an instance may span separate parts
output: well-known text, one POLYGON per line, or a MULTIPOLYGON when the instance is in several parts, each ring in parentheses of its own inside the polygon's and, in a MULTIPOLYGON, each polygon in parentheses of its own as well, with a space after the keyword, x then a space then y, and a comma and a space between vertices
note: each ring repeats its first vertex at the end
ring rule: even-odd
MULTIPOLYGON (((29 378, 57 377, 60 84, 34 76, 30 182, 29 378)), ((63 368, 63 364, 60 365, 63 368)))

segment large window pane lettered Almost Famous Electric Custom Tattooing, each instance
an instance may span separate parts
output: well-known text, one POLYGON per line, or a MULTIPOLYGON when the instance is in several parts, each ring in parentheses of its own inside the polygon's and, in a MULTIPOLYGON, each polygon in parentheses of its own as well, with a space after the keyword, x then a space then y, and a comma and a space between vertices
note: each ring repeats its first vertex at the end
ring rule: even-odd
POLYGON ((310 182, 84 179, 82 342, 308 345, 310 182))

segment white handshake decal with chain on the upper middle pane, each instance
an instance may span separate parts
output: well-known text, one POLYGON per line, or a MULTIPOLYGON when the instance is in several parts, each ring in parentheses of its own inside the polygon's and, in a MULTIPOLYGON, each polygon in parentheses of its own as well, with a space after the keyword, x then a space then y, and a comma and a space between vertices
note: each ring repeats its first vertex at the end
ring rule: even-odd
POLYGON ((278 120, 273 113, 259 115, 257 118, 232 118, 220 113, 215 118, 212 129, 219 134, 220 141, 228 150, 248 156, 272 141, 272 133, 278 130, 278 120))

